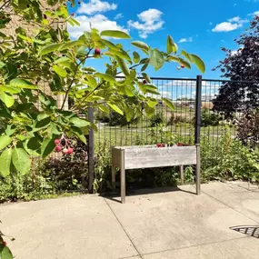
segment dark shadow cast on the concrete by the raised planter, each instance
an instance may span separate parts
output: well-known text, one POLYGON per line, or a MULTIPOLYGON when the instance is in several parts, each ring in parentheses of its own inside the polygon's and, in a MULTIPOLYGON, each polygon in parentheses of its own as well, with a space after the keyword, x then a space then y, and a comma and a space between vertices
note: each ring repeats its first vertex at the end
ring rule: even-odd
MULTIPOLYGON (((159 188, 152 188, 152 189, 151 188, 130 189, 130 190, 127 190, 126 197, 144 195, 144 194, 163 194, 163 193, 172 193, 172 192, 182 192, 182 193, 193 194, 193 195, 196 194, 195 192, 186 191, 179 187, 159 187, 159 188)), ((116 203, 121 203, 120 193, 106 193, 106 194, 100 194, 100 196, 103 196, 106 199, 109 199, 116 203)))

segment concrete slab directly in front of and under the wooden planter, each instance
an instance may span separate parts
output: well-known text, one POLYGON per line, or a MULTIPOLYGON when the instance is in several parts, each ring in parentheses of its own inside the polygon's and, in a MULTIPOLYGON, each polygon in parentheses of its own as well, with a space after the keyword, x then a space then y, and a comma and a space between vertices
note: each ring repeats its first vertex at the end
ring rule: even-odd
POLYGON ((243 237, 229 227, 254 224, 206 194, 191 194, 194 186, 181 189, 139 191, 126 204, 107 199, 140 254, 243 237))

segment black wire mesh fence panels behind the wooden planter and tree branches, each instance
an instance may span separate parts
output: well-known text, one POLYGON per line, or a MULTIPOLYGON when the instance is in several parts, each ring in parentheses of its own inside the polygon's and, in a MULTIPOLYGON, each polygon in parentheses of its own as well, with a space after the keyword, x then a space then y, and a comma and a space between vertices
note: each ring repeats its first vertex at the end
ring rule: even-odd
MULTIPOLYGON (((196 79, 152 78, 152 85, 156 85, 160 93, 160 95, 151 95, 158 101, 155 113, 153 116, 147 116, 144 113, 138 115, 131 123, 127 123, 124 116, 117 115, 113 111, 107 115, 94 109, 94 122, 98 129, 94 134, 95 155, 94 161, 92 161, 95 164, 95 177, 97 174, 103 174, 100 172, 104 171, 98 160, 105 160, 105 164, 109 164, 112 146, 159 143, 194 144, 196 84, 196 79), (162 98, 168 98, 174 103, 174 111, 164 105, 162 98), (105 154, 105 152, 109 154, 105 154)), ((229 140, 236 139, 238 119, 245 114, 248 108, 259 106, 257 104, 259 98, 254 99, 254 95, 257 95, 258 85, 259 83, 255 82, 202 80, 202 171, 207 168, 216 170, 216 166, 224 164, 226 155, 229 155, 230 159, 236 155, 238 157, 236 161, 242 164, 244 159, 244 154, 241 152, 242 145, 237 145, 230 151, 229 140)), ((58 102, 62 102, 62 100, 58 100, 58 102)), ((69 186, 71 190, 82 190, 88 187, 87 164, 71 162, 72 165, 68 166, 69 168, 63 169, 57 165, 57 160, 60 160, 60 157, 54 154, 51 164, 48 164, 52 168, 44 166, 49 170, 45 178, 55 177, 55 184, 60 179, 61 189, 62 184, 66 185, 66 189, 69 186)), ((45 161, 37 159, 37 164, 40 168, 45 161)), ((229 164, 225 166, 229 166, 229 164)), ((36 166, 32 169, 32 174, 37 174, 35 168, 36 166)), ((225 168, 225 171, 228 170, 231 168, 225 168)), ((48 186, 49 183, 49 181, 44 182, 45 186, 48 186)))

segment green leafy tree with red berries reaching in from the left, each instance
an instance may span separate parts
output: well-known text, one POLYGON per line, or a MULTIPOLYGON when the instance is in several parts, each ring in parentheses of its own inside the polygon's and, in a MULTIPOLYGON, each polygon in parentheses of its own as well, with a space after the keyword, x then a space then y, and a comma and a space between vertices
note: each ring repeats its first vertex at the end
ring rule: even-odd
MULTIPOLYGON (((75 0, 70 4, 75 5, 75 0)), ((130 40, 130 35, 122 31, 99 32, 92 28, 78 39, 70 40, 65 25, 79 23, 69 15, 65 0, 0 0, 0 15, 0 173, 3 176, 14 172, 27 174, 31 157, 48 157, 56 148, 55 139, 62 135, 75 136, 86 144, 85 134, 94 127, 82 117, 89 104, 106 113, 109 107, 131 121, 132 103, 125 96, 135 96, 138 100, 135 108, 142 111, 145 104, 145 113, 152 115, 157 99, 150 94, 160 93, 148 75, 145 75, 147 84, 139 82, 138 69, 144 73, 149 66, 158 70, 164 63, 176 62, 205 70, 197 55, 185 51, 177 54, 171 36, 167 37, 165 51, 133 41, 133 53, 107 40, 107 37, 130 40), (19 20, 17 26, 12 24, 15 20, 19 20), (29 29, 32 26, 34 29, 29 29), (8 34, 7 27, 14 27, 14 31, 8 34), (109 60, 105 72, 88 65, 89 59, 102 62, 103 57, 109 60), (116 80, 121 73, 125 78, 116 80), (69 111, 68 98, 72 105, 69 111)), ((174 108, 171 100, 163 101, 170 109, 174 108)), ((1 257, 13 258, 11 254, 5 255, 6 250, 2 245, 1 257)))

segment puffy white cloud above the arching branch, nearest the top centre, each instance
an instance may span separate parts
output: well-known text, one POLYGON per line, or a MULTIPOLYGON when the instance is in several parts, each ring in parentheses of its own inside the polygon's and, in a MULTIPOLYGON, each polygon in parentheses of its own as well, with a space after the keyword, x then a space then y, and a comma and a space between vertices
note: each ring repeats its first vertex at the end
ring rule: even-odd
POLYGON ((162 15, 163 13, 157 9, 148 9, 137 15, 140 22, 130 20, 128 21, 128 26, 129 28, 137 29, 140 37, 146 38, 163 27, 162 15))

